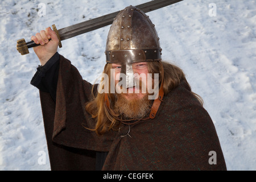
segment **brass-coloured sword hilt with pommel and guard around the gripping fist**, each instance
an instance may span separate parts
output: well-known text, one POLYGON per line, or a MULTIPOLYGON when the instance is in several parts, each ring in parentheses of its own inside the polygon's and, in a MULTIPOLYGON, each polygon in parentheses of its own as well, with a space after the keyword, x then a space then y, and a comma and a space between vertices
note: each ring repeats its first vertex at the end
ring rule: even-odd
MULTIPOLYGON (((57 34, 57 37, 59 39, 59 48, 61 48, 62 44, 60 42, 60 35, 59 35, 59 32, 57 31, 55 24, 52 25, 52 28, 53 28, 53 31, 55 31, 55 33, 57 34)), ((51 40, 51 39, 49 39, 49 40, 51 40)), ((17 40, 16 49, 19 51, 19 53, 21 55, 26 55, 26 54, 30 53, 28 51, 29 48, 36 47, 36 46, 40 46, 40 44, 36 44, 34 41, 30 41, 30 42, 26 43, 25 39, 19 39, 19 40, 17 40)))

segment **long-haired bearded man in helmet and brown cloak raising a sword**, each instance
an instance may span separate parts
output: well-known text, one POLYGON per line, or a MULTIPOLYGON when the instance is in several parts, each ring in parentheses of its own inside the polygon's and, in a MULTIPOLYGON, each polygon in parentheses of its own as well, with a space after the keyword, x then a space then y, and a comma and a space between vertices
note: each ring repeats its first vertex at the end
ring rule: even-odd
POLYGON ((180 68, 162 61, 141 10, 129 6, 115 18, 99 85, 56 52, 51 28, 31 39, 42 45, 31 84, 40 90, 51 169, 226 170, 200 97, 180 68))

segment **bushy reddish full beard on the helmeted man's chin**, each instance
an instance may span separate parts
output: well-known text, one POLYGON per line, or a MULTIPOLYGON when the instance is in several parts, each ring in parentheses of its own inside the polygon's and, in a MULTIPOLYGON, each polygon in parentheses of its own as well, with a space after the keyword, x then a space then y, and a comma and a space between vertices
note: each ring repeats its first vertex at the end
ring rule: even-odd
POLYGON ((116 94, 117 101, 114 105, 115 113, 123 119, 141 119, 150 111, 151 100, 148 100, 148 94, 138 96, 138 94, 116 94), (129 100, 127 99, 129 97, 129 100))

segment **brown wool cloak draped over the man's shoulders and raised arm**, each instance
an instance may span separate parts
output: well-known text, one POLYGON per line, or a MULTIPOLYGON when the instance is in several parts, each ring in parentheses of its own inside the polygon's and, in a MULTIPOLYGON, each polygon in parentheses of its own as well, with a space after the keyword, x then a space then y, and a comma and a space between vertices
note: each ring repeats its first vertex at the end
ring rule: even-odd
POLYGON ((83 127, 95 125, 85 111, 91 90, 60 56, 56 105, 40 92, 52 170, 94 170, 94 151, 109 151, 103 170, 226 170, 212 119, 185 82, 164 96, 154 119, 130 126, 131 137, 124 124, 101 137, 83 127), (210 151, 217 164, 209 164, 210 151))

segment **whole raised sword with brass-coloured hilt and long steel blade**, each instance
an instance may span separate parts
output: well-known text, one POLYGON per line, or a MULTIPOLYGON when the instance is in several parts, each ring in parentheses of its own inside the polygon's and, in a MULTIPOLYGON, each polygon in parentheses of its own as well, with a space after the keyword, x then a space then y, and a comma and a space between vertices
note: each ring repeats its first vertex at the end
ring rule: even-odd
MULTIPOLYGON (((148 13, 150 11, 154 11, 157 9, 160 9, 165 6, 172 5, 174 3, 180 2, 183 0, 154 0, 150 2, 143 3, 141 5, 138 5, 138 9, 142 10, 144 13, 148 13)), ((119 11, 116 11, 114 13, 110 13, 104 16, 100 16, 98 18, 86 20, 85 22, 73 24, 72 26, 68 26, 65 28, 61 28, 57 30, 55 24, 52 25, 53 31, 56 32, 60 42, 59 47, 62 47, 61 40, 66 40, 69 38, 73 38, 74 36, 84 34, 89 31, 96 30, 101 27, 108 26, 109 24, 112 24, 115 16, 119 11)), ((29 53, 28 48, 40 46, 40 44, 36 44, 34 41, 27 42, 25 39, 19 39, 17 40, 16 49, 19 51, 21 55, 26 55, 29 53)))

